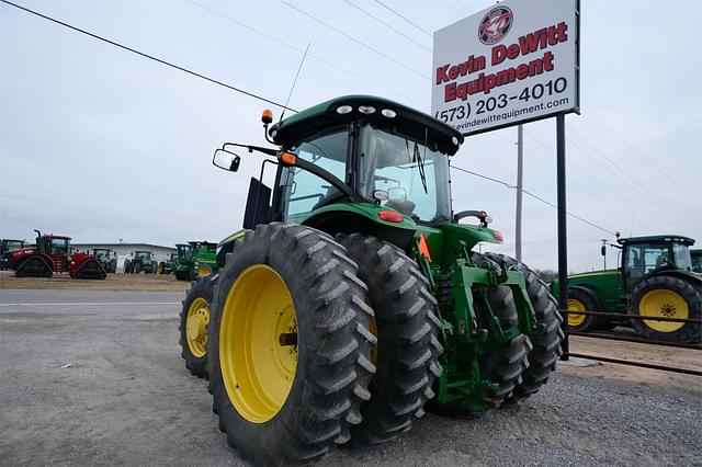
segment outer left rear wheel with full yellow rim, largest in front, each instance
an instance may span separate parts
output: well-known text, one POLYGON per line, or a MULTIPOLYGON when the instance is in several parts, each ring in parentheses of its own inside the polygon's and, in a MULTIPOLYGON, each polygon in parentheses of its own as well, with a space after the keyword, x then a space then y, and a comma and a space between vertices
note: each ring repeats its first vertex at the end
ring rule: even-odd
POLYGON ((261 225, 219 270, 208 328, 213 410, 254 465, 310 464, 350 438, 375 372, 367 287, 309 227, 261 225))

